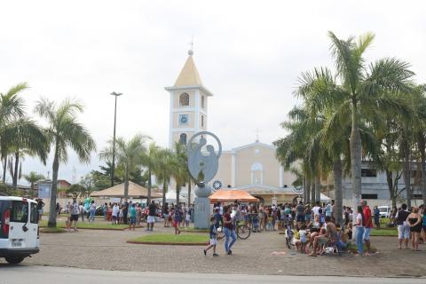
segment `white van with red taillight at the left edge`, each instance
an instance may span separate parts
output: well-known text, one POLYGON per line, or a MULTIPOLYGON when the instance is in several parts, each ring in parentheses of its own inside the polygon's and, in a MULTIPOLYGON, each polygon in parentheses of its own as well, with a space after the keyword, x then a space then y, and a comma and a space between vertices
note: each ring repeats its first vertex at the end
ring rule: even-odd
POLYGON ((39 251, 37 202, 14 196, 0 196, 0 257, 19 264, 39 251))

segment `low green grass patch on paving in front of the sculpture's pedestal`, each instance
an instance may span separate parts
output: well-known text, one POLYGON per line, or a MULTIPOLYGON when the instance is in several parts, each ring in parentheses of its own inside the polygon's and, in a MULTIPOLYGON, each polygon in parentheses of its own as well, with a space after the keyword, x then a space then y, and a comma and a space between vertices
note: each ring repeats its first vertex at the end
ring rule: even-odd
POLYGON ((206 244, 209 236, 201 234, 172 234, 172 233, 156 233, 138 237, 130 241, 168 243, 168 244, 206 244))

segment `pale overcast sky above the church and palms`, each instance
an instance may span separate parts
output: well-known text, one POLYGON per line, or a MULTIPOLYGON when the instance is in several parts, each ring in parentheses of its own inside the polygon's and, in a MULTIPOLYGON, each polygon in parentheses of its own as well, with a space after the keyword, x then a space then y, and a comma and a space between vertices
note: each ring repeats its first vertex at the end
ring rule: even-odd
MULTIPOLYGON (((170 95, 193 38, 193 59, 209 98, 208 129, 224 149, 284 137, 280 122, 300 102, 297 77, 333 67, 331 30, 340 38, 375 33, 369 61, 406 60, 426 83, 423 1, 5 1, 0 0, 0 92, 27 82, 28 115, 41 97, 76 99, 98 147, 89 164, 70 151, 59 178, 78 181, 98 170, 113 136, 137 133, 168 146, 170 95), (73 170, 75 169, 75 170, 73 170)), ((22 171, 51 177, 26 157, 22 171)), ((11 177, 7 177, 11 181, 11 177)), ((21 179, 20 184, 25 184, 21 179)))

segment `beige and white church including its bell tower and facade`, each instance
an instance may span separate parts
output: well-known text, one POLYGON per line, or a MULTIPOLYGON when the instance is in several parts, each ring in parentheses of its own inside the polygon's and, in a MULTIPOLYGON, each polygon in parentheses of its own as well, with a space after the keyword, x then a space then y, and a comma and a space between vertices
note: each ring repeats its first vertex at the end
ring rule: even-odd
MULTIPOLYGON (((193 134, 208 130, 208 99, 213 94, 201 83, 193 51, 188 54, 176 83, 165 88, 170 92, 170 148, 175 142, 186 144, 193 134)), ((291 185, 295 178, 283 170, 275 157, 274 146, 256 140, 223 151, 213 186, 242 189, 270 204, 293 201, 299 196, 299 191, 291 185)))

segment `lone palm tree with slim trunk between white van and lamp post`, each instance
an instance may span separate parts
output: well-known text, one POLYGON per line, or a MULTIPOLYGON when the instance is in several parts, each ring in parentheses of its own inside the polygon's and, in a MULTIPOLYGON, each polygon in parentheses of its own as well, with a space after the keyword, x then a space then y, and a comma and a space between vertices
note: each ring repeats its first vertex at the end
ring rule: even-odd
POLYGON ((58 191, 59 163, 67 162, 68 147, 71 147, 81 162, 89 162, 91 152, 96 149, 89 130, 77 122, 77 114, 83 113, 83 106, 77 102, 64 100, 59 106, 48 99, 36 103, 35 111, 45 118, 48 126, 44 130, 46 138, 53 146, 51 205, 49 227, 56 227, 56 195, 58 191))

